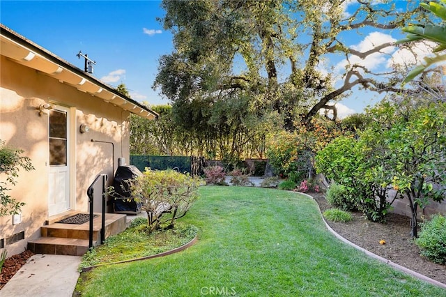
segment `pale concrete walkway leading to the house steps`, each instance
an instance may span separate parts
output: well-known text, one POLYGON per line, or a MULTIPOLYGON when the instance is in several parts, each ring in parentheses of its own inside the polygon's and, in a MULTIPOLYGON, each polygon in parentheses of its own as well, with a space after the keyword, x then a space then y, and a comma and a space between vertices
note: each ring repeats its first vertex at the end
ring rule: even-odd
POLYGON ((4 297, 70 297, 82 257, 35 254, 0 290, 4 297))

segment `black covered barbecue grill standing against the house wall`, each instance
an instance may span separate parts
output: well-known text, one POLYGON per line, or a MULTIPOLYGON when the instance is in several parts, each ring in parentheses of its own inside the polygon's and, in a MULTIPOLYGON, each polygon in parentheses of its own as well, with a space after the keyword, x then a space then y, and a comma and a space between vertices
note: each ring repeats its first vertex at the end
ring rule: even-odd
POLYGON ((134 201, 130 195, 128 180, 140 176, 142 172, 133 165, 119 166, 113 179, 113 186, 117 196, 114 199, 114 212, 136 215, 141 212, 141 202, 134 201), (130 200, 129 200, 130 199, 130 200))

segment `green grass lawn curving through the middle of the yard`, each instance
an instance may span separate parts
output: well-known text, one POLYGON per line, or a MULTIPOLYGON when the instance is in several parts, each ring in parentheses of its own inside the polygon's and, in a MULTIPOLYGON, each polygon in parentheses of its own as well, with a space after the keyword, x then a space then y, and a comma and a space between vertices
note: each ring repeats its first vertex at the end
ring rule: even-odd
POLYGON ((344 245, 316 202, 264 188, 202 187, 182 220, 199 241, 168 257, 95 268, 82 296, 446 296, 344 245))

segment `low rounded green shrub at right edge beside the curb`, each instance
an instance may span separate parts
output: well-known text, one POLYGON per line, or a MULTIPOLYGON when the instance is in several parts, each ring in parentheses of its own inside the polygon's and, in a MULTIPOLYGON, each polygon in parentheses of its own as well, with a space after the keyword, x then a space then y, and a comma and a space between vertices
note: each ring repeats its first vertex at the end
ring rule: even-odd
POLYGON ((446 264, 446 217, 438 214, 430 221, 422 223, 420 237, 415 239, 415 244, 429 260, 446 264))

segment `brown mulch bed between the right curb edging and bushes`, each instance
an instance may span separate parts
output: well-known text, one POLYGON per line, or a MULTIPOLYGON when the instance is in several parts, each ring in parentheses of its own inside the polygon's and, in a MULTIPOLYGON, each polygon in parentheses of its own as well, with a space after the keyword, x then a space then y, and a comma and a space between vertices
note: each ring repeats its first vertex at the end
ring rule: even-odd
MULTIPOLYGON (((321 212, 332 208, 320 193, 308 193, 321 212)), ((328 222, 337 234, 361 248, 396 264, 446 284, 446 265, 435 264, 420 255, 420 248, 410 238, 410 219, 396 213, 387 214, 387 223, 367 220, 362 213, 352 213, 351 222, 328 222), (379 241, 384 240, 385 245, 379 241)))

